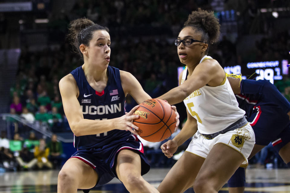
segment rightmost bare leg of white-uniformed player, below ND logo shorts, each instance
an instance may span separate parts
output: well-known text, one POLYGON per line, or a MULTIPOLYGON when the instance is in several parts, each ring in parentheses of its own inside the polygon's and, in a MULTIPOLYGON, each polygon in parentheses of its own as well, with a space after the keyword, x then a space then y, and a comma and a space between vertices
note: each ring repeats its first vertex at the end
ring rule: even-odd
POLYGON ((196 176, 195 193, 218 193, 243 163, 241 153, 225 144, 215 144, 196 176))

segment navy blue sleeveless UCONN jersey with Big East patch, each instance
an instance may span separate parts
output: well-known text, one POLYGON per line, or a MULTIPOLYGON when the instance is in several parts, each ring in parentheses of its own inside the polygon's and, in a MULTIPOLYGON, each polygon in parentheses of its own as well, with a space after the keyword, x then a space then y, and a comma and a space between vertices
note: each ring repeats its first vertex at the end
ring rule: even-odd
MULTIPOLYGON (((84 119, 105 120, 121 117, 125 114, 125 94, 121 85, 120 71, 118 68, 108 66, 108 83, 102 92, 94 90, 85 78, 82 66, 71 72, 79 87, 79 104, 84 119)), ((114 129, 101 134, 74 136, 74 147, 78 150, 111 147, 114 141, 130 131, 114 129)))

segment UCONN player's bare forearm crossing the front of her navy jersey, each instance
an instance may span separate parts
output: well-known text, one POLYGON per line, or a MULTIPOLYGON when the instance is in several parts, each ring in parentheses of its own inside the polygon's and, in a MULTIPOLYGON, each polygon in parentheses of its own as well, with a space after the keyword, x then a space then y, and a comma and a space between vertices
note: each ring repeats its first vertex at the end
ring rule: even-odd
POLYGON ((118 118, 108 120, 81 119, 78 122, 72 123, 70 127, 76 136, 99 134, 117 129, 114 124, 116 119, 118 118))

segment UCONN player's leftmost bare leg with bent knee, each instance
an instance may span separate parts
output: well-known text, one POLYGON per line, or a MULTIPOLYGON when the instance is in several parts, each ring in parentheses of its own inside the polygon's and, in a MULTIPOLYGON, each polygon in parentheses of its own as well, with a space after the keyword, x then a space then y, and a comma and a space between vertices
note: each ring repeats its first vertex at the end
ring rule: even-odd
POLYGON ((57 179, 57 193, 76 193, 77 189, 93 188, 98 181, 97 172, 77 158, 63 165, 57 179))

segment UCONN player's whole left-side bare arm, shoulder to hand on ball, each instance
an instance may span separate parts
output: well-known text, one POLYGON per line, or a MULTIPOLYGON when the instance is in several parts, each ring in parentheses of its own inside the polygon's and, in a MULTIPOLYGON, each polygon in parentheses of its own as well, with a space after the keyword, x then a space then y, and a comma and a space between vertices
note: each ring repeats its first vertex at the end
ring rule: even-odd
MULTIPOLYGON (((111 131, 113 129, 122 129, 122 130, 128 129, 131 131, 132 129, 129 127, 138 129, 136 125, 132 124, 132 120, 138 118, 138 116, 132 115, 134 109, 138 108, 137 106, 126 115, 123 115, 122 117, 118 117, 115 119, 108 120, 84 119, 81 107, 79 105, 79 101, 77 99, 79 89, 72 74, 68 74, 65 77, 63 77, 60 80, 59 87, 63 102, 64 113, 69 122, 69 126, 72 132, 76 136, 104 133, 107 131, 111 131)), ((136 131, 132 132, 134 134, 137 134, 136 131)))

